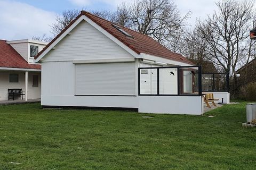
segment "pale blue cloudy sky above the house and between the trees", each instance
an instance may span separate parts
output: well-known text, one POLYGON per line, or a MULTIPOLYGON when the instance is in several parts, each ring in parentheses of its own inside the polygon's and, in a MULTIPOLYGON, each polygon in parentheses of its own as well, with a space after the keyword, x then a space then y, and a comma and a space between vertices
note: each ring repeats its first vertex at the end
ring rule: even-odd
MULTIPOLYGON (((50 27, 56 14, 73 8, 87 10, 114 10, 122 0, 0 0, 0 39, 29 39, 35 36, 52 36, 50 27)), ((126 2, 133 2, 127 0, 126 2)), ((213 0, 174 0, 182 14, 192 12, 188 22, 204 19, 215 9, 213 0)))

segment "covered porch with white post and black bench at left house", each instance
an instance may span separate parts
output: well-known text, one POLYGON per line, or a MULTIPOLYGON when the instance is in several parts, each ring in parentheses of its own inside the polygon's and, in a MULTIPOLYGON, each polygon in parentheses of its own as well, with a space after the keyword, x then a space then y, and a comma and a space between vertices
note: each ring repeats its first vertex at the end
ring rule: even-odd
MULTIPOLYGON (((0 101, 9 100, 8 89, 22 89, 23 101, 41 98, 41 70, 0 68, 0 101)), ((22 100, 21 95, 11 97, 12 101, 22 100)), ((11 101, 10 101, 11 102, 11 101)))

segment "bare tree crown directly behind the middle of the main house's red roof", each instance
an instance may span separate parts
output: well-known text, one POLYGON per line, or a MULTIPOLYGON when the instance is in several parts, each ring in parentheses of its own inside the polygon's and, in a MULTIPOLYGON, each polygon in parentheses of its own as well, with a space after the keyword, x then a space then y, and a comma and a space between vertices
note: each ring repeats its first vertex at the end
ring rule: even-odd
POLYGON ((190 12, 182 16, 170 0, 139 0, 130 7, 131 28, 163 45, 175 39, 190 12))

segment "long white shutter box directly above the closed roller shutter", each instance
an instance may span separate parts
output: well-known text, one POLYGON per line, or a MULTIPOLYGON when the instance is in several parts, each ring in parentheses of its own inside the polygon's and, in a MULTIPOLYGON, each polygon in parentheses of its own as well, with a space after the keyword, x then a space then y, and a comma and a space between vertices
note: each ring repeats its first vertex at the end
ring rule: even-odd
POLYGON ((101 59, 101 60, 73 60, 74 64, 130 63, 130 62, 135 62, 135 58, 101 59))

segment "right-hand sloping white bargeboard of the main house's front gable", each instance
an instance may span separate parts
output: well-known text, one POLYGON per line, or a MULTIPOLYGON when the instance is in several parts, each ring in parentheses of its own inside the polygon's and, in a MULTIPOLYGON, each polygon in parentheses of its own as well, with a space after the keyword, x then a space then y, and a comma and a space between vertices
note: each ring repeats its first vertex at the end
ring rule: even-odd
POLYGON ((126 50, 126 52, 130 53, 132 56, 134 56, 135 58, 139 57, 139 54, 137 54, 136 52, 134 52, 134 50, 132 50, 131 48, 127 47, 125 44, 123 44, 121 41, 119 41, 116 37, 114 37, 113 35, 111 35, 108 31, 106 31, 105 29, 103 29, 102 27, 100 27, 97 23, 93 22, 90 18, 88 18, 87 16, 83 15, 82 16, 84 18, 84 20, 88 23, 90 23, 94 28, 96 28, 97 30, 99 30, 101 33, 103 33, 103 35, 107 36, 109 39, 113 40, 117 45, 119 45, 120 47, 122 47, 124 50, 126 50))

